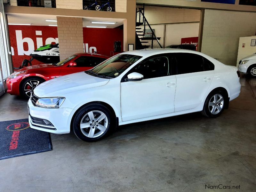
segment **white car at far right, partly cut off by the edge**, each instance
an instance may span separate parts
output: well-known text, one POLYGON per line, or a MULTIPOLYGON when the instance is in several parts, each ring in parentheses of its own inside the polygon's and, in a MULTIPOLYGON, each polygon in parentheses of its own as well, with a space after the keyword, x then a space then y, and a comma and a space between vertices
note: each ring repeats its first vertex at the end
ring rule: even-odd
POLYGON ((256 53, 241 59, 237 68, 242 73, 248 73, 251 77, 256 77, 256 53))

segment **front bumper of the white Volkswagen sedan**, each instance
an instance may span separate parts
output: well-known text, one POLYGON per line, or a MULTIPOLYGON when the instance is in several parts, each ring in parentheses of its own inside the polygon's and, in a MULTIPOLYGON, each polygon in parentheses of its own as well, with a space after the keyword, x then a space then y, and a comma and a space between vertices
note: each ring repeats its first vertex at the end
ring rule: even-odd
POLYGON ((70 132, 70 123, 75 111, 71 108, 41 108, 32 104, 28 100, 28 122, 31 128, 40 131, 63 134, 70 132), (31 117, 46 119, 52 123, 53 126, 42 124, 35 124, 31 117))

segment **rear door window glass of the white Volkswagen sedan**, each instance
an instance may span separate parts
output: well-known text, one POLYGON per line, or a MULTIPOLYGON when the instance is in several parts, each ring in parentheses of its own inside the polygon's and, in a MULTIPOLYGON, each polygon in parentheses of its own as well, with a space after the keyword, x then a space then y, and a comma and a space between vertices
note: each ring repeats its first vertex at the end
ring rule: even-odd
POLYGON ((176 53, 177 73, 195 73, 204 71, 203 57, 193 53, 176 53))

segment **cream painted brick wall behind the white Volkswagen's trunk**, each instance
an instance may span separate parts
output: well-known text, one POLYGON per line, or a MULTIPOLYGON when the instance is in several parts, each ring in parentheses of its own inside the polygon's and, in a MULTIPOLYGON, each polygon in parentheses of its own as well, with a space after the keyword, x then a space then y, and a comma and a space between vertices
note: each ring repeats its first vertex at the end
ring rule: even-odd
POLYGON ((255 35, 255 12, 205 10, 202 52, 236 66, 239 37, 255 35))

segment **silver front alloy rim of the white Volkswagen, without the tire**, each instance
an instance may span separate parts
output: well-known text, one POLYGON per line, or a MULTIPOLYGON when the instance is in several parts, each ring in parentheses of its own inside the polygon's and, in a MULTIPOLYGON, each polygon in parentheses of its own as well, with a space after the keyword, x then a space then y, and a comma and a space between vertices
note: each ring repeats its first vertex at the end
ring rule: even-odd
POLYGON ((80 123, 82 133, 89 138, 102 135, 108 127, 108 118, 102 111, 90 111, 86 113, 80 123))

